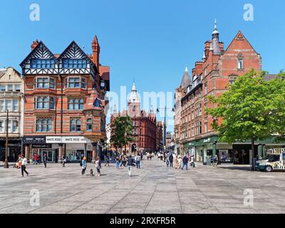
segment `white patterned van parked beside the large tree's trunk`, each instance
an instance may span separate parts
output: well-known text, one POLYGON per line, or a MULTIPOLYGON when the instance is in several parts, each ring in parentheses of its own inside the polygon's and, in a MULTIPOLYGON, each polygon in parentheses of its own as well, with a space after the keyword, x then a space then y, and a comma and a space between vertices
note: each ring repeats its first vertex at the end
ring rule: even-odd
POLYGON ((266 152, 264 160, 258 160, 255 165, 260 171, 285 171, 285 148, 270 149, 266 152))

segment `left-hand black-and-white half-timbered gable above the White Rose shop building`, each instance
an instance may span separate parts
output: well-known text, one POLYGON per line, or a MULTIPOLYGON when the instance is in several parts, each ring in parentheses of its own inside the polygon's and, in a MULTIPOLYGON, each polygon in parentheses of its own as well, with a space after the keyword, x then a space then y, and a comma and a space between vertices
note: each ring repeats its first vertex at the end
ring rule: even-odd
POLYGON ((57 74, 56 56, 40 41, 20 64, 23 75, 57 74))

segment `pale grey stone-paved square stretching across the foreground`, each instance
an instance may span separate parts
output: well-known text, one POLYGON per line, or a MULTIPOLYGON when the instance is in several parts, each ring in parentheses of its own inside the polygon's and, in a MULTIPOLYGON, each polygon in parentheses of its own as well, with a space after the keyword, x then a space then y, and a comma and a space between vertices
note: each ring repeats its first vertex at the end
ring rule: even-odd
POLYGON ((102 169, 102 176, 81 176, 79 164, 29 165, 21 170, 0 167, 0 214, 4 213, 285 213, 285 173, 250 172, 247 167, 197 165, 190 170, 167 168, 143 160, 142 169, 102 169), (40 194, 30 204, 31 190, 40 194), (252 190, 253 206, 244 205, 244 190, 252 190))

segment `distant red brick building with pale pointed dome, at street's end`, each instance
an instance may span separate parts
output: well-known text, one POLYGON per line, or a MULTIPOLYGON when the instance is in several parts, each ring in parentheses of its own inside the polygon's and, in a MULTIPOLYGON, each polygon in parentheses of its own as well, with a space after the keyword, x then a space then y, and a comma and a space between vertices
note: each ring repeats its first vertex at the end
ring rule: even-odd
MULTIPOLYGON (((133 120, 133 138, 135 138, 135 142, 127 146, 126 152, 135 152, 135 148, 137 152, 155 152, 157 150, 157 135, 159 137, 161 135, 162 140, 162 128, 159 126, 157 130, 156 115, 153 109, 150 110, 150 113, 140 110, 140 98, 135 83, 133 83, 133 89, 128 100, 128 110, 118 113, 114 108, 111 123, 116 117, 125 115, 129 115, 133 120)), ((123 148, 123 150, 125 149, 123 148)))

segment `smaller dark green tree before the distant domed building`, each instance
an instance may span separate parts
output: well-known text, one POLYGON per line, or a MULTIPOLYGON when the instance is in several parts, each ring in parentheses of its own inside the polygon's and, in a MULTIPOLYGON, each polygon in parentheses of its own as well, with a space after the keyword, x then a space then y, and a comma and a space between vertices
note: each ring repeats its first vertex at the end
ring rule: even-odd
POLYGON ((120 116, 115 118, 111 125, 111 139, 110 141, 118 149, 125 147, 125 152, 127 151, 127 145, 133 142, 133 121, 130 116, 120 116))

